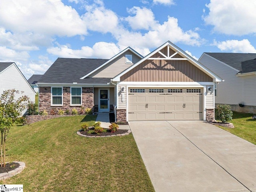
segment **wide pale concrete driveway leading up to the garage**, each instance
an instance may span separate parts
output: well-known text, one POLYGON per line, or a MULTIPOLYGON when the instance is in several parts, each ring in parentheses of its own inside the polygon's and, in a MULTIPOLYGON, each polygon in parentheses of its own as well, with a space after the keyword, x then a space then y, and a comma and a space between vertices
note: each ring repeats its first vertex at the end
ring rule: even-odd
POLYGON ((256 146, 203 121, 129 122, 156 192, 256 192, 256 146))

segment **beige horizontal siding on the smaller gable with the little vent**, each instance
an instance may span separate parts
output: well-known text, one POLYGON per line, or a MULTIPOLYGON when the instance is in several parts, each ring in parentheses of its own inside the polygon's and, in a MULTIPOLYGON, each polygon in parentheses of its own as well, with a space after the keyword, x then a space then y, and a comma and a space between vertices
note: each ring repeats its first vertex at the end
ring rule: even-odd
POLYGON ((90 75, 90 77, 95 78, 113 78, 132 66, 134 63, 138 62, 140 58, 136 56, 131 51, 127 51, 119 57, 115 58, 96 72, 90 75), (125 55, 132 55, 132 63, 125 63, 125 55))

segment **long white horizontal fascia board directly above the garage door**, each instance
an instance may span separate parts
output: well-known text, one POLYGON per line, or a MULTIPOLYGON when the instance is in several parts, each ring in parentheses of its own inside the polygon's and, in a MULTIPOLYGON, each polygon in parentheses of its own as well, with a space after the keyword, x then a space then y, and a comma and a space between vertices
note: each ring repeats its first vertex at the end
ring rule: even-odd
POLYGON ((214 82, 120 82, 118 85, 134 87, 202 87, 214 82))

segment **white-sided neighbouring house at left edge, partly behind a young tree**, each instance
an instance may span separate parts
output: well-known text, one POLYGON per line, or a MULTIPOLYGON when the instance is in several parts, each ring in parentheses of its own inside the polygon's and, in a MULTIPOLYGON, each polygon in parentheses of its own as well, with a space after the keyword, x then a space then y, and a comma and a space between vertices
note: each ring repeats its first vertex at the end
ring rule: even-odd
MULTIPOLYGON (((14 62, 0 62, 0 94, 4 90, 15 89, 22 94, 16 94, 16 97, 26 95, 30 98, 31 102, 35 102, 35 92, 19 70, 14 62)), ((22 115, 26 112, 24 110, 22 115)))

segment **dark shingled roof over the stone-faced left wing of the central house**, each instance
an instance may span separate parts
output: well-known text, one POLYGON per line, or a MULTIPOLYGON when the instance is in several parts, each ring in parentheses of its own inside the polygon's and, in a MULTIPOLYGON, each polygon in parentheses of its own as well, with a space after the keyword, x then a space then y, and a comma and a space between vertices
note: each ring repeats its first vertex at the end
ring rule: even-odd
POLYGON ((40 78, 38 84, 108 84, 110 78, 84 78, 95 68, 104 64, 107 59, 76 59, 76 58, 58 58, 52 66, 40 78))

